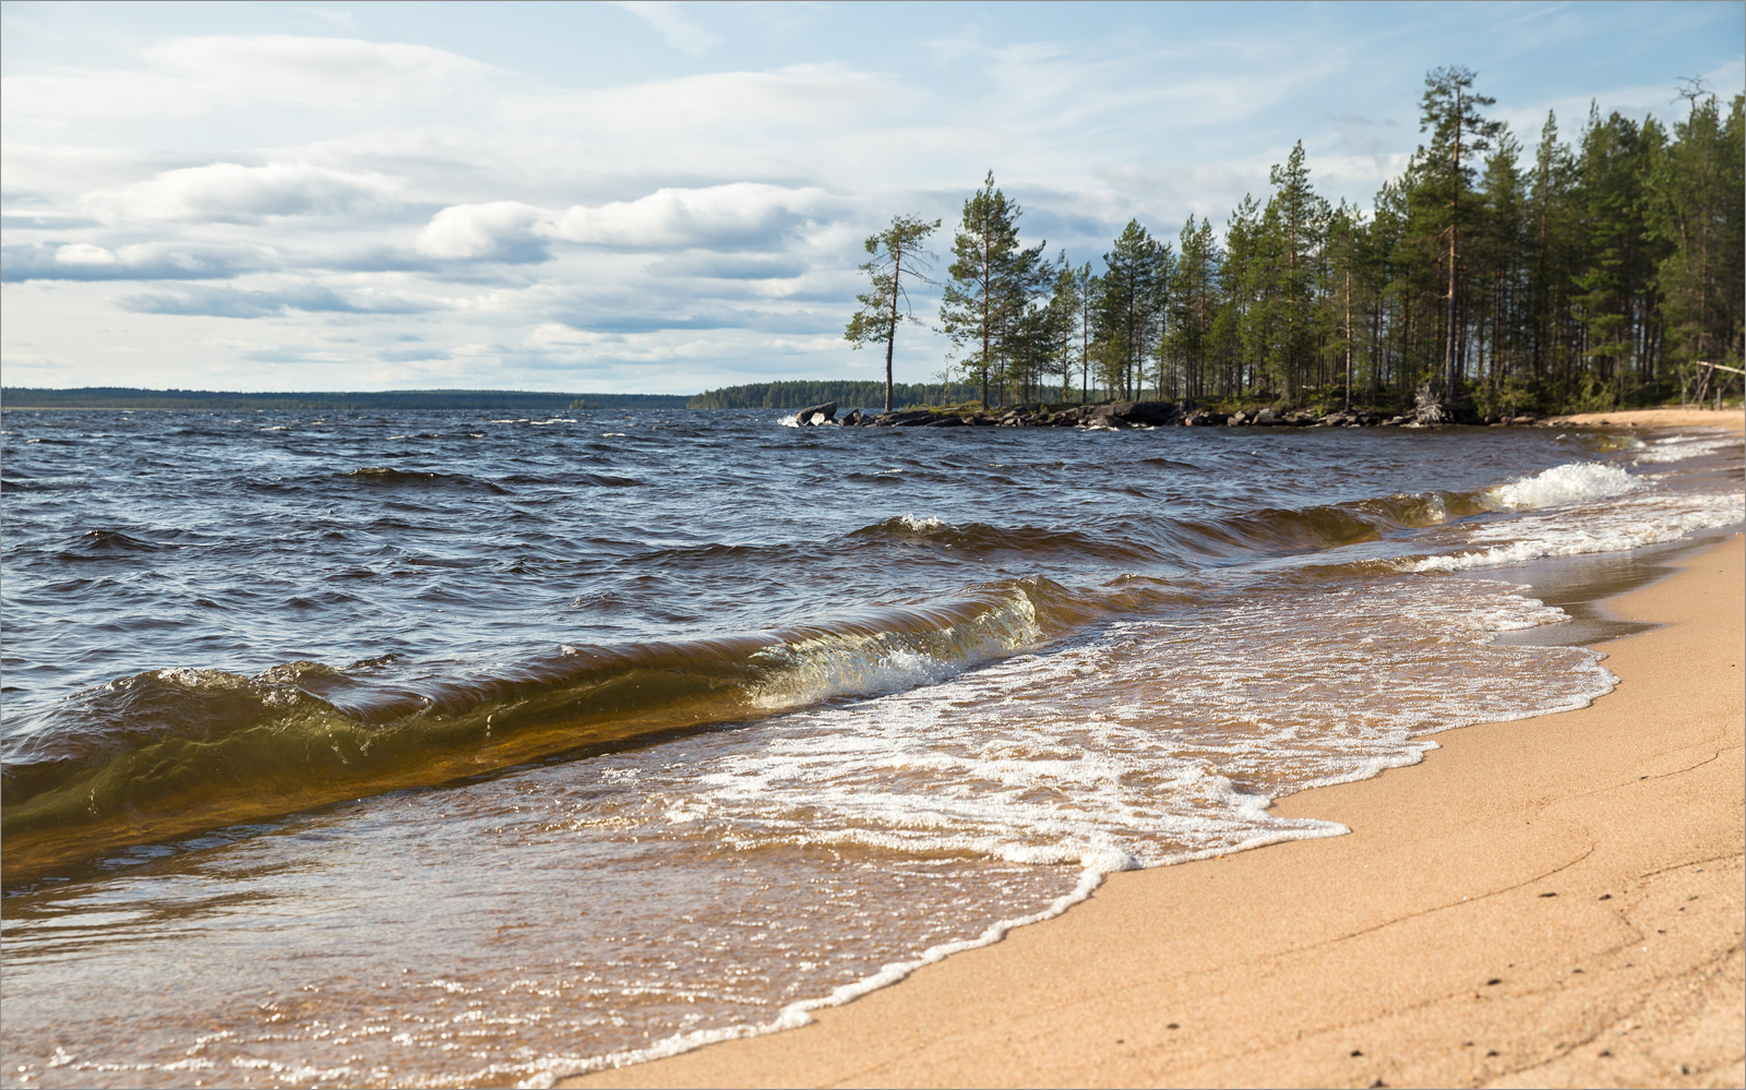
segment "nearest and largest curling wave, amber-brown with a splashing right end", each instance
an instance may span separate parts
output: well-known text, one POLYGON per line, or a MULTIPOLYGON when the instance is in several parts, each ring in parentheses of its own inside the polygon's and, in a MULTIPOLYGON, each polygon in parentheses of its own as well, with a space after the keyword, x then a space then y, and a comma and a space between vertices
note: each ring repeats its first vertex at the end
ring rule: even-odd
POLYGON ((5 741, 3 880, 578 748, 896 692, 1032 648, 1088 615, 1065 587, 1030 578, 829 625, 564 646, 484 678, 395 685, 314 662, 257 676, 148 671, 54 704, 5 741))

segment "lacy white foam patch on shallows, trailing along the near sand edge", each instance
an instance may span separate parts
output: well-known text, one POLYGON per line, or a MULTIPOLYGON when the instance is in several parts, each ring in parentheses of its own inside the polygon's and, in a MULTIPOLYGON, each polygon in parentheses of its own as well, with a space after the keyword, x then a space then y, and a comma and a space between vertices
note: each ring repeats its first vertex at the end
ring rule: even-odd
POLYGON ((1594 652, 1493 643, 1498 631, 1561 620, 1521 587, 1460 578, 1241 597, 1208 603, 1191 624, 1121 622, 927 688, 789 713, 756 744, 698 739, 662 769, 627 758, 613 798, 683 798, 684 823, 669 828, 747 861, 796 844, 1070 866, 1077 880, 1034 912, 929 945, 773 1018, 548 1057, 522 1085, 801 1025, 822 1006, 1058 915, 1112 870, 1339 835, 1332 821, 1273 814, 1271 798, 1414 763, 1435 748, 1428 732, 1580 707, 1608 692, 1613 678, 1594 652))

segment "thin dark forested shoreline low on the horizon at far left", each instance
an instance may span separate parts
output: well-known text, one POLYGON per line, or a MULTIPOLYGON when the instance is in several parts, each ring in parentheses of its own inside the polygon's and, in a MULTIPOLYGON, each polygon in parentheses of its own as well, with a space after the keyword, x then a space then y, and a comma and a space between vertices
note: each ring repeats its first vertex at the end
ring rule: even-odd
POLYGON ((538 393, 529 390, 395 390, 382 393, 225 393, 217 390, 136 390, 84 386, 0 391, 9 409, 491 409, 501 412, 564 412, 566 409, 683 409, 684 395, 667 393, 538 393))

